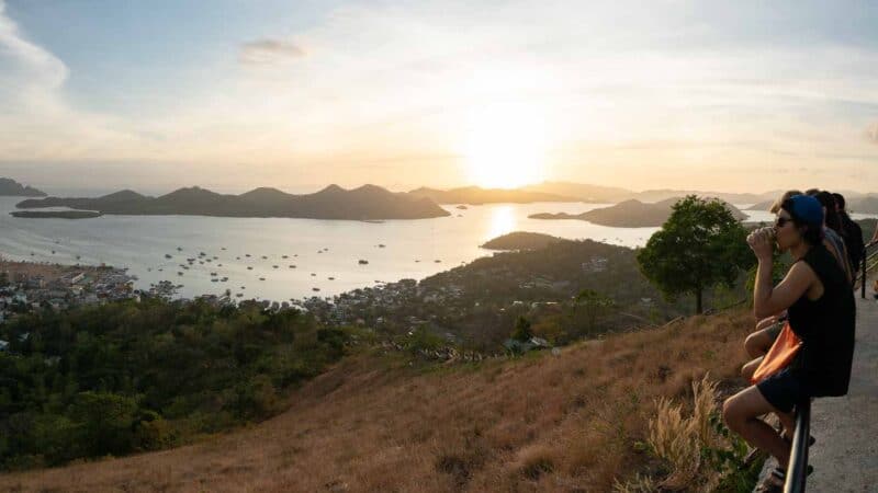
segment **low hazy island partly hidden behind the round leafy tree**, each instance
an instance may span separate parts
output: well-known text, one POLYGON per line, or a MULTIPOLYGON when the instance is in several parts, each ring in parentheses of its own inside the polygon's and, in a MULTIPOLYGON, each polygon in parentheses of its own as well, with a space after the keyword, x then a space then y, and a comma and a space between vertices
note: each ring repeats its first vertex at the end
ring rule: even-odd
MULTIPOLYGON (((640 200, 631 199, 611 207, 588 210, 583 214, 542 213, 532 214, 528 217, 531 219, 579 219, 616 228, 649 228, 662 226, 671 217, 671 207, 677 200, 679 200, 678 197, 656 202, 655 204, 644 204, 640 200)), ((739 220, 746 219, 747 216, 733 205, 725 203, 725 206, 739 220)))

